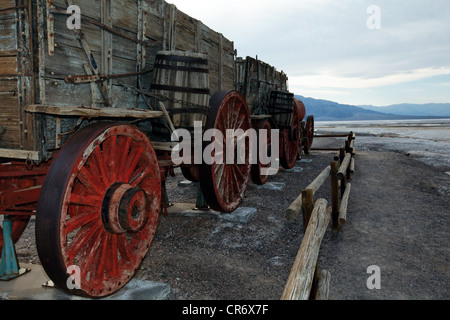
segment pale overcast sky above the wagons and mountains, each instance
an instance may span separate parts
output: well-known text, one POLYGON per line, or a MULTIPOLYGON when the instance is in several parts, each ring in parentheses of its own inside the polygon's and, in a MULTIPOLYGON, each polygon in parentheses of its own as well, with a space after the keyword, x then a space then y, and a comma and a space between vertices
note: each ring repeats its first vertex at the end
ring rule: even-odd
POLYGON ((295 94, 353 105, 450 102, 449 0, 167 2, 234 41, 238 56, 283 70, 295 94))

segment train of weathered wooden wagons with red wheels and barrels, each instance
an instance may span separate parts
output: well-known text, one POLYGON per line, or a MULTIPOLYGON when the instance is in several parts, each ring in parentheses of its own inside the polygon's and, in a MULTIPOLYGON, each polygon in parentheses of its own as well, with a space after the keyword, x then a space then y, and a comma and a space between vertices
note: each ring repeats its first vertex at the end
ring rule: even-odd
MULTIPOLYGON (((144 259, 175 129, 280 129, 286 168, 309 150, 287 76, 163 0, 2 0, 0 27, 0 214, 13 242, 36 215, 40 261, 73 294, 117 292, 144 259)), ((226 212, 260 168, 181 166, 226 212)))

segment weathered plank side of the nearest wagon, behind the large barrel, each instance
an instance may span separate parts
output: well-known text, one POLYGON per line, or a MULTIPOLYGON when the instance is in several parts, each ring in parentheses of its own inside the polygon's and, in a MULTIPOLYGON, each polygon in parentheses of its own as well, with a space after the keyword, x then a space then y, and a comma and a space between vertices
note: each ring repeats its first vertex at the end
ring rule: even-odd
POLYGON ((0 157, 45 160, 81 117, 154 112, 142 93, 161 50, 207 54, 211 94, 234 88, 233 42, 163 0, 4 0, 0 36, 0 157))

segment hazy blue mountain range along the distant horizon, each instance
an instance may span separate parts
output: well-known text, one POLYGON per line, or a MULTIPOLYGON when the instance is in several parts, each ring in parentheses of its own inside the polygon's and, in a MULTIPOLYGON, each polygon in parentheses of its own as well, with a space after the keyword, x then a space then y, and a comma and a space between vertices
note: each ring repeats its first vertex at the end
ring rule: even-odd
POLYGON ((387 107, 352 106, 328 100, 296 96, 303 101, 307 115, 316 121, 400 120, 450 118, 450 103, 398 104, 387 107))

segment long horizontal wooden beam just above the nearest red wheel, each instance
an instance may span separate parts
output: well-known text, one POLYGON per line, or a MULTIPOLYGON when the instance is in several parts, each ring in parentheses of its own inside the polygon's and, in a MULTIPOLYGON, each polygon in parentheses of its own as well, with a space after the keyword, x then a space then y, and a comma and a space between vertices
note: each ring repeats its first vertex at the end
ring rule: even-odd
POLYGON ((87 118, 135 118, 155 119, 164 117, 162 111, 118 109, 118 108, 84 108, 74 106, 28 105, 26 112, 43 113, 55 116, 77 116, 87 118))

